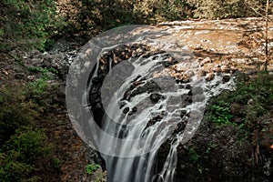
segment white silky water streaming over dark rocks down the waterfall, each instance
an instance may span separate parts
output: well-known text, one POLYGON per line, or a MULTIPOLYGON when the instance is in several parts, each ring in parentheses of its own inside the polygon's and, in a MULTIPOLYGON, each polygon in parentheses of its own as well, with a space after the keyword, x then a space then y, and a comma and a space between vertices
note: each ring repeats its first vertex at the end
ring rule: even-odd
MULTIPOLYGON (((113 46, 103 51, 111 48, 113 46)), ((193 56, 189 59, 181 59, 181 56, 183 53, 180 55, 178 65, 187 65, 187 70, 195 73, 187 84, 177 84, 171 76, 155 76, 164 72, 165 68, 161 62, 167 59, 165 54, 147 58, 130 58, 114 66, 106 76, 101 89, 106 109, 102 126, 105 133, 101 136, 102 139, 98 145, 99 148, 103 148, 103 151, 107 151, 106 154, 115 154, 103 155, 106 160, 108 181, 151 182, 156 180, 156 177, 157 182, 175 181, 177 146, 187 143, 194 136, 203 118, 208 99, 211 96, 217 96, 223 89, 230 89, 233 86, 232 79, 227 83, 222 83, 222 76, 216 76, 214 80, 207 82, 205 77, 198 76, 200 71, 197 60, 193 56), (130 72, 126 77, 120 76, 120 72, 124 69, 130 72), (154 91, 162 96, 157 103, 150 100, 153 92, 144 92, 130 99, 123 99, 126 90, 134 83, 140 83, 140 85, 136 86, 130 94, 149 81, 156 82, 161 88, 159 91, 154 91), (113 95, 110 99, 104 100, 104 96, 109 94, 104 88, 111 82, 117 83, 116 87, 112 88, 111 94, 113 95), (193 102, 185 106, 181 96, 187 95, 190 91, 189 86, 193 91, 193 102), (194 90, 200 89, 203 92, 194 93, 194 90), (198 97, 203 97, 203 99, 197 99, 198 97), (121 103, 124 106, 120 109, 121 103), (124 113, 123 110, 126 107, 129 109, 124 113), (135 113, 130 114, 134 108, 136 108, 135 113), (186 110, 187 114, 181 117, 183 110, 186 110), (158 122, 147 126, 154 116, 161 116, 161 118, 158 122), (185 123, 187 126, 174 134, 179 123, 185 123), (166 162, 162 171, 156 174, 157 151, 168 138, 173 142, 167 158, 160 158, 166 162)), ((109 65, 112 66, 111 61, 109 65)), ((98 66, 96 66, 96 71, 97 69, 98 66)), ((96 72, 94 76, 97 76, 96 72)))

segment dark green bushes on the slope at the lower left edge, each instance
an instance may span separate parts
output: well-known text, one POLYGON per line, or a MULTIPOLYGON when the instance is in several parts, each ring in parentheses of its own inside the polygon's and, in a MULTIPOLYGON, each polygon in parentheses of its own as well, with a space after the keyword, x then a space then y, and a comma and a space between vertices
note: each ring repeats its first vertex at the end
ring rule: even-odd
POLYGON ((24 86, 9 87, 0 88, 0 181, 41 181, 36 161, 56 158, 45 132, 35 127, 39 106, 23 94, 24 86))

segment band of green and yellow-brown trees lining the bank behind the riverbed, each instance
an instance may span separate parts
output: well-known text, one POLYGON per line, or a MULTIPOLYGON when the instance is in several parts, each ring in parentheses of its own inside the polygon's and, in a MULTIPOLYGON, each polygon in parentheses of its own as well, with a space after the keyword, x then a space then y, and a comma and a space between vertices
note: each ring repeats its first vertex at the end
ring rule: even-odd
POLYGON ((261 0, 3 0, 0 5, 0 48, 5 52, 15 48, 48 50, 55 37, 64 34, 93 36, 120 25, 189 17, 259 16, 265 9, 261 0))

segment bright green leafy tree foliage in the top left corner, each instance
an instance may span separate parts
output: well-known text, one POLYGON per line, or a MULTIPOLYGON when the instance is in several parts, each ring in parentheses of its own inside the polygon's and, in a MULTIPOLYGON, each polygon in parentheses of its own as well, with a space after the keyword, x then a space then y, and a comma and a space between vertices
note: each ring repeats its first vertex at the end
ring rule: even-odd
POLYGON ((45 50, 48 39, 63 28, 56 15, 55 0, 3 0, 0 17, 0 47, 9 51, 17 47, 45 50))

